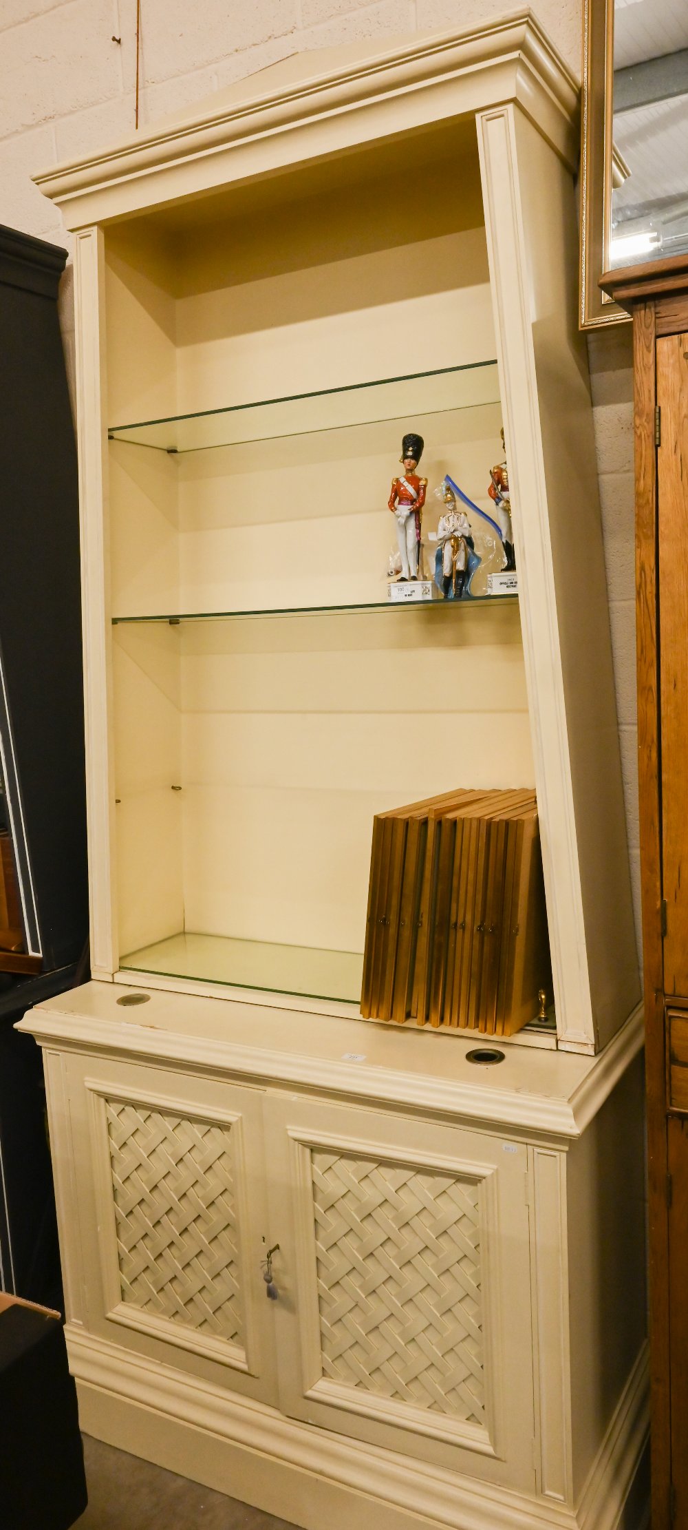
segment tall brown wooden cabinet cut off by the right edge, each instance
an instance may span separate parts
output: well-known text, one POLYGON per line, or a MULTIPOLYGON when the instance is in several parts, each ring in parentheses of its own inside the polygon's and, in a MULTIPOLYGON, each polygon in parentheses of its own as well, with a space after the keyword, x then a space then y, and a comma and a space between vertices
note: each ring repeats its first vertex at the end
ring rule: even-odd
POLYGON ((688 1530, 686 257, 604 289, 633 315, 653 1527, 688 1530))

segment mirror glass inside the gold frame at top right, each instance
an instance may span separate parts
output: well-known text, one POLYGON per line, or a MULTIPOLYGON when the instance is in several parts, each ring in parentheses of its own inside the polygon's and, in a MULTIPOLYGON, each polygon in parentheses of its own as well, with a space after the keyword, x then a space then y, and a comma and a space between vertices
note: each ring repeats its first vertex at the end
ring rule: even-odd
POLYGON ((688 0, 615 0, 608 265, 688 251, 688 0))

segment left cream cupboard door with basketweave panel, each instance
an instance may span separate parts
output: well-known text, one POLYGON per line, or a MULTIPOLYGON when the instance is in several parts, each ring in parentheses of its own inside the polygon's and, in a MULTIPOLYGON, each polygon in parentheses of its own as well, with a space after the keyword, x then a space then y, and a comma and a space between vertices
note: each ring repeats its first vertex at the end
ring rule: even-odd
POLYGON ((274 1400, 260 1091, 69 1057, 83 1320, 274 1400))

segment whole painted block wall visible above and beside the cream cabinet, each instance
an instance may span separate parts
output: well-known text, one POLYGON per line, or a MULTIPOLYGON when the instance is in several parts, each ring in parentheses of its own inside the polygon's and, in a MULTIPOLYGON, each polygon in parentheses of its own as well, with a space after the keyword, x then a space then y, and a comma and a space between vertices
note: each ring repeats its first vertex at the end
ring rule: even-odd
MULTIPOLYGON (((307 47, 503 15, 509 0, 141 0, 142 124, 307 47)), ((535 14, 581 72, 583 0, 537 0, 535 14)), ((69 246, 31 174, 107 145, 135 125, 136 0, 0 0, 0 220, 69 246)), ((73 375, 72 268, 61 324, 73 375)), ((616 705, 639 927, 633 577, 633 375, 630 326, 590 340, 616 705)), ((566 485, 563 485, 566 493, 566 485)), ((586 549, 575 540, 572 578, 586 549)), ((590 676, 590 685, 595 676, 590 676)))

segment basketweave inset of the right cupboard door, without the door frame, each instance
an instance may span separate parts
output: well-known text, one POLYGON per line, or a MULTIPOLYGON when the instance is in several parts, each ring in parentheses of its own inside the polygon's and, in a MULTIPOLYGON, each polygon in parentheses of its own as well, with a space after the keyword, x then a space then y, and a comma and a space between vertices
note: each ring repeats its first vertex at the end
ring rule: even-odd
POLYGON ((485 1426, 480 1186, 313 1148, 323 1375, 485 1426))

